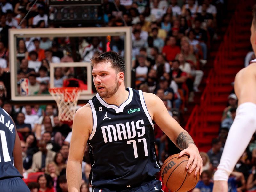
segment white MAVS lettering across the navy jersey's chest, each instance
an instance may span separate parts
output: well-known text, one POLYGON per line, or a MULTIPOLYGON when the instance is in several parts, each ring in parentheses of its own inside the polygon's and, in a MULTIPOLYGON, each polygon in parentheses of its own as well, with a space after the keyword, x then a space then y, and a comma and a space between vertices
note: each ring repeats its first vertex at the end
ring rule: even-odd
POLYGON ((118 123, 116 125, 102 126, 102 135, 104 142, 112 142, 117 140, 132 139, 136 135, 137 137, 142 137, 145 134, 144 120, 138 120, 136 123, 134 121, 126 123, 118 123))

